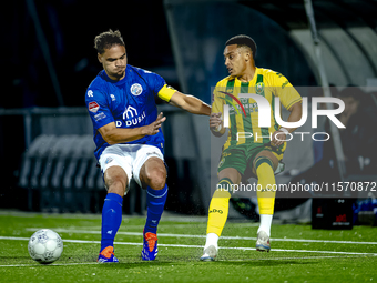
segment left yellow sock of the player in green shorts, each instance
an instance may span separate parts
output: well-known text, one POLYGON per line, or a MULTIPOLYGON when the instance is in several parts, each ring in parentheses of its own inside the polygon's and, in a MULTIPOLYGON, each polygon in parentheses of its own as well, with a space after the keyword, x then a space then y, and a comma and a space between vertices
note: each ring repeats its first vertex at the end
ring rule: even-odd
POLYGON ((218 181, 217 189, 212 196, 208 210, 208 223, 207 223, 207 234, 215 233, 221 235, 227 220, 227 213, 230 210, 230 199, 231 199, 231 186, 232 181, 227 178, 223 178, 218 181))

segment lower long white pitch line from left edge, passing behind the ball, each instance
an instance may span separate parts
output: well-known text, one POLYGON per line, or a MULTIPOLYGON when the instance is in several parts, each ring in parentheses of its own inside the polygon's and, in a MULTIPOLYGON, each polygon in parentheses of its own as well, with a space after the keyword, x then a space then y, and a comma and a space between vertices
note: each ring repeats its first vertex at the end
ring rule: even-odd
MULTIPOLYGON (((17 237, 17 236, 0 236, 0 240, 20 240, 29 241, 29 237, 17 237)), ((85 240, 63 240, 64 243, 82 243, 82 244, 101 244, 100 241, 85 241, 85 240)), ((143 245, 142 243, 131 243, 131 242, 114 242, 119 245, 143 245)), ((203 249, 203 245, 185 245, 185 244, 159 244, 159 246, 165 247, 194 247, 203 249)), ((241 251, 255 251, 255 247, 233 247, 233 246, 222 246, 222 250, 241 250, 241 251)), ((309 251, 309 250, 283 250, 273 249, 274 252, 295 252, 295 253, 329 253, 329 254, 348 254, 348 255, 374 255, 377 253, 356 253, 356 252, 335 252, 335 251, 309 251)))

